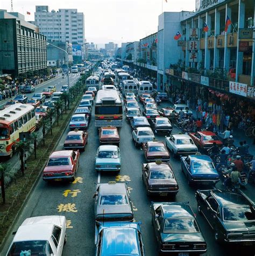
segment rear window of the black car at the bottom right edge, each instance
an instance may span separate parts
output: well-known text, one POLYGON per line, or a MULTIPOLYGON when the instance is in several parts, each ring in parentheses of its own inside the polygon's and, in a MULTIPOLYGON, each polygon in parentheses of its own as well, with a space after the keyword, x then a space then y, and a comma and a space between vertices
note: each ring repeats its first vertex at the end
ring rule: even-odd
POLYGON ((255 212, 249 205, 242 207, 223 207, 223 220, 255 220, 255 212))

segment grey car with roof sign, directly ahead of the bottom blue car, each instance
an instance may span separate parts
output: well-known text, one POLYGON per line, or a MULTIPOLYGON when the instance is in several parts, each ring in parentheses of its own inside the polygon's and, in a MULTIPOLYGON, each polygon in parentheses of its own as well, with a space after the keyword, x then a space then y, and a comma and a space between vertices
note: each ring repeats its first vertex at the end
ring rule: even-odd
POLYGON ((116 182, 98 184, 94 198, 97 226, 100 222, 133 221, 133 209, 126 184, 116 182))

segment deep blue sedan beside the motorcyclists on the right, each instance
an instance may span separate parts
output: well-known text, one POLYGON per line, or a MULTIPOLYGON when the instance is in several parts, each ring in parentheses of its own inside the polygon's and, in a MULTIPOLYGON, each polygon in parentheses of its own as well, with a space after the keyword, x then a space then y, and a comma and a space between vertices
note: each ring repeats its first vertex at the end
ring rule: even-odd
POLYGON ((181 170, 187 176, 189 184, 214 185, 219 181, 214 163, 207 155, 181 157, 181 170))

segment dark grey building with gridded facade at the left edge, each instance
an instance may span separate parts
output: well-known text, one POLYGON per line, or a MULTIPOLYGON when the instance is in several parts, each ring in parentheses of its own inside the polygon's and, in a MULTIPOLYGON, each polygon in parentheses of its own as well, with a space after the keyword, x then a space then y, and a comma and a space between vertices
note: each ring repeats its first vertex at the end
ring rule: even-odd
POLYGON ((15 76, 47 67, 46 37, 17 12, 0 10, 0 72, 15 76))

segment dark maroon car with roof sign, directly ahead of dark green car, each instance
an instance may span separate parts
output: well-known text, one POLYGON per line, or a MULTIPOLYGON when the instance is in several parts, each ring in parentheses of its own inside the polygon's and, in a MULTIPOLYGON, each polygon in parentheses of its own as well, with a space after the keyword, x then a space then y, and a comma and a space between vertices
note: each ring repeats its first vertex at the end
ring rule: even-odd
POLYGON ((147 195, 176 196, 179 185, 170 164, 156 161, 145 163, 141 168, 147 195))

